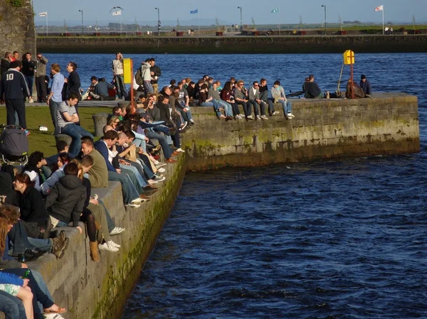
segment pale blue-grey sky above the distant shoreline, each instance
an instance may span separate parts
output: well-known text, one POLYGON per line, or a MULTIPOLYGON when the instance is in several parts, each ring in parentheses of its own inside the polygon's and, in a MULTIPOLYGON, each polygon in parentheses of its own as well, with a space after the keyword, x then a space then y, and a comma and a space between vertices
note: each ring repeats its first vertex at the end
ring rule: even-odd
POLYGON ((327 22, 338 23, 339 16, 342 21, 362 21, 381 23, 381 11, 375 12, 376 6, 384 5, 384 19, 392 22, 411 23, 415 16, 419 23, 427 21, 426 0, 156 0, 152 4, 141 0, 33 0, 36 12, 36 25, 46 23, 46 18, 39 17, 38 13, 48 11, 49 24, 55 21, 62 23, 78 23, 81 21, 79 9, 83 9, 85 25, 100 25, 108 22, 120 23, 120 16, 109 13, 113 6, 121 6, 122 22, 133 23, 135 18, 139 25, 157 21, 157 10, 160 10, 161 21, 197 21, 197 14, 190 14, 190 10, 199 9, 199 18, 202 21, 211 21, 215 18, 227 23, 240 23, 240 9, 242 7, 243 24, 252 24, 252 18, 258 24, 287 24, 322 23, 325 11, 322 4, 327 7, 327 22), (279 8, 278 13, 271 13, 279 8))

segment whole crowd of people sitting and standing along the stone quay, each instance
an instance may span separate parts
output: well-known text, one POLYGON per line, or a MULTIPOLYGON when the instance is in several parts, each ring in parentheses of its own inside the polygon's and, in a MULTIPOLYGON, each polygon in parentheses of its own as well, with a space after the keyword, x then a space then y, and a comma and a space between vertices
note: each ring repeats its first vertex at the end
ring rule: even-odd
MULTIPOLYGON (((243 80, 231 77, 221 86, 219 80, 204 75, 196 82, 189 77, 178 82, 171 80, 159 90, 162 70, 154 58, 149 58, 134 75, 136 108, 131 104, 114 107, 102 138, 95 141, 80 126, 78 103, 82 92, 77 64, 68 63, 68 77, 64 77, 60 65, 53 63, 46 79, 47 63, 41 53, 34 61, 31 53, 20 60, 17 52, 6 53, 1 60, 0 99, 6 102, 7 124, 15 124, 17 117, 19 126, 27 129, 25 99, 32 102, 31 89, 36 77, 37 100, 49 106, 53 134, 71 137, 70 145, 57 141, 57 153, 53 156, 46 158, 36 151, 24 167, 1 167, 0 310, 8 318, 43 318, 43 311, 65 312, 53 303, 40 274, 26 271, 28 266, 24 263, 46 254, 63 258, 69 242, 64 227, 87 233, 94 262, 101 261, 100 251, 120 249, 112 237, 125 229, 115 225, 102 199, 92 195, 92 188, 106 188, 109 181, 119 182, 123 205, 129 209, 151 200, 159 183, 166 179, 162 174, 164 166, 173 165, 176 157, 184 153, 180 134, 194 125, 192 107, 212 107, 218 119, 226 121, 265 121, 279 114, 274 104, 280 104, 285 119, 295 117, 292 103, 278 80, 270 90, 264 78, 246 89, 243 80)), ((121 53, 112 60, 112 77, 110 84, 93 76, 88 96, 100 100, 128 99, 130 92, 124 82, 121 53), (110 96, 109 90, 115 94, 110 96)), ((364 75, 360 86, 362 92, 371 94, 371 85, 364 75)), ((302 94, 305 98, 330 98, 329 92, 320 90, 313 75, 307 77, 302 94)))

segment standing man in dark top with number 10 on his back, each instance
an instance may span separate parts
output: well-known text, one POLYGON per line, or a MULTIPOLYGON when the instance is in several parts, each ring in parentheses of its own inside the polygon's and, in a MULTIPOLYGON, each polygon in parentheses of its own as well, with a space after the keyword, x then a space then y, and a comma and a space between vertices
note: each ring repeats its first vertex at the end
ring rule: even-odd
POLYGON ((0 85, 0 97, 4 94, 6 101, 7 125, 15 124, 15 112, 18 114, 19 126, 26 129, 25 99, 30 97, 30 90, 25 77, 20 72, 22 63, 19 60, 11 62, 10 69, 4 73, 0 85))

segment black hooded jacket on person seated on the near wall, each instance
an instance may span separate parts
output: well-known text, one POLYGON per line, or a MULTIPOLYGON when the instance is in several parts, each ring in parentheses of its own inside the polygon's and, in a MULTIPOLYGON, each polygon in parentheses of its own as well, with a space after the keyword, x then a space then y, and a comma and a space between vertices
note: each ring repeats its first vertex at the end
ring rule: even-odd
POLYGON ((73 227, 77 227, 85 200, 86 188, 82 180, 74 175, 64 175, 46 198, 46 208, 61 222, 73 222, 73 227))

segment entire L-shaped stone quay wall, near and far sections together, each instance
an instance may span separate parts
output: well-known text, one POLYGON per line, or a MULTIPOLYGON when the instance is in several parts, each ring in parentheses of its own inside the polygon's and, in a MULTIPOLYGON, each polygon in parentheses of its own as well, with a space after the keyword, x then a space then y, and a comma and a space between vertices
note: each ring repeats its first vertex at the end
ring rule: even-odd
POLYGON ((120 318, 127 296, 154 248, 186 171, 226 166, 265 166, 319 158, 418 152, 418 99, 404 93, 374 94, 371 99, 292 100, 295 119, 267 121, 216 119, 210 107, 194 107, 196 124, 182 140, 186 153, 166 166, 167 180, 139 209, 122 205, 120 183, 94 188, 120 227, 112 239, 120 252, 101 252, 90 261, 88 238, 66 228, 70 246, 63 259, 50 254, 29 266, 41 272, 67 319, 120 318))

